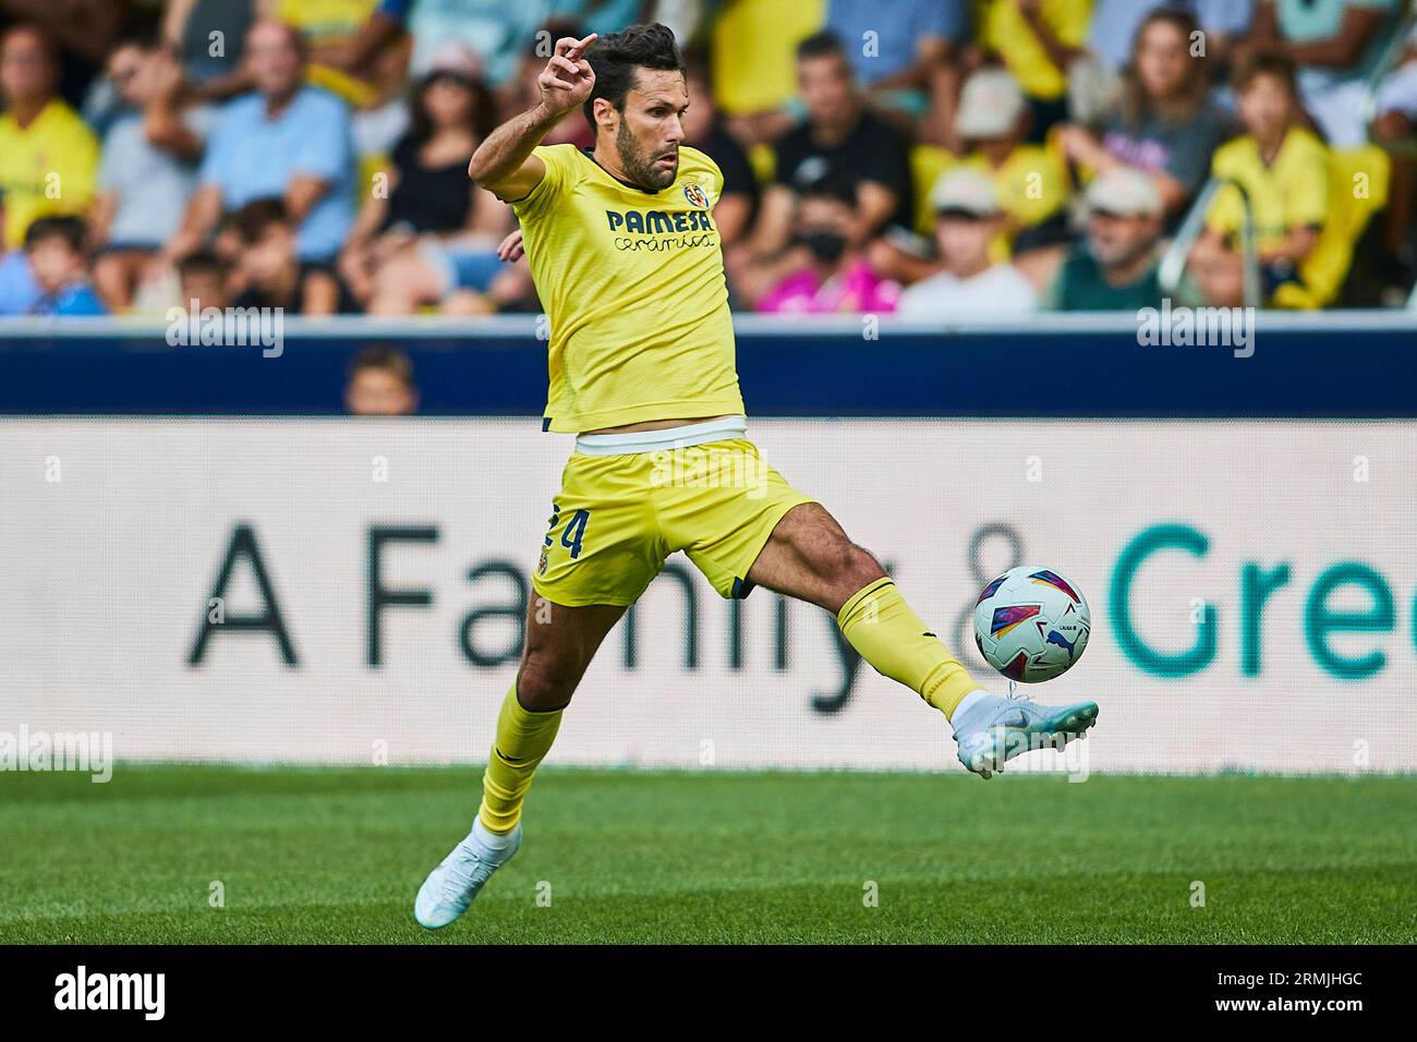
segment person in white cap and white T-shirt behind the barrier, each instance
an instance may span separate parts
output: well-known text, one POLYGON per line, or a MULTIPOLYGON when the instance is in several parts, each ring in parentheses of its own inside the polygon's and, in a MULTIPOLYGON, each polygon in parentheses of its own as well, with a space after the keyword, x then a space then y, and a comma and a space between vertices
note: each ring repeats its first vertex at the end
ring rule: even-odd
POLYGON ((993 262, 989 244, 1005 221, 993 181, 961 167, 931 193, 935 245, 942 269, 908 286, 897 313, 913 319, 1010 318, 1037 308, 1033 284, 1006 261, 993 262))

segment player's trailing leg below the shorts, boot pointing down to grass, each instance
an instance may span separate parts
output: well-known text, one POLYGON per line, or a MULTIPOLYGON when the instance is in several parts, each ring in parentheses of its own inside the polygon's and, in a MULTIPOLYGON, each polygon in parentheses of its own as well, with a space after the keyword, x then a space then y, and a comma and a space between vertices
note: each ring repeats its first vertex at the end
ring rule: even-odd
POLYGON ((521 846, 521 801, 536 768, 595 649, 623 614, 625 608, 612 605, 531 604, 517 682, 497 716, 478 818, 418 889, 414 917, 419 924, 435 930, 453 921, 521 846))

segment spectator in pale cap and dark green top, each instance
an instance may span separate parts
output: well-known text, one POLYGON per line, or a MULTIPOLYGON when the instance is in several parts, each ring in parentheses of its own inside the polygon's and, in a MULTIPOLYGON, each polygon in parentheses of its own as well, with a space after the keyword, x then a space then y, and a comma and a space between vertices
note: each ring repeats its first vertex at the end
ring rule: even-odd
POLYGON ((1087 237, 1049 247, 1015 264, 1043 291, 1049 310, 1139 310, 1161 305, 1156 279, 1162 201, 1139 170, 1104 170, 1087 187, 1087 237))

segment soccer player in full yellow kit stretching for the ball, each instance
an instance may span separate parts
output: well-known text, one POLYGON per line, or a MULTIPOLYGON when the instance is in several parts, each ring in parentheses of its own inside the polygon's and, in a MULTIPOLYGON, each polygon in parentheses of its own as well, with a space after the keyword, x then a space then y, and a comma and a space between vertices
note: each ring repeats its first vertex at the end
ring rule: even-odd
POLYGON ((577 683, 676 550, 721 597, 762 586, 833 612, 862 658, 945 715, 961 761, 986 778, 1097 719, 1093 702, 1053 709, 981 690, 880 563, 747 439, 713 223, 723 174, 682 145, 689 94, 673 34, 656 24, 558 40, 538 84, 540 103, 489 135, 468 173, 520 218, 551 326, 543 425, 578 437, 478 819, 418 890, 414 914, 429 929, 461 916, 517 852, 521 801, 577 683), (595 147, 540 146, 578 105, 595 147), (673 479, 684 471, 741 479, 673 479))

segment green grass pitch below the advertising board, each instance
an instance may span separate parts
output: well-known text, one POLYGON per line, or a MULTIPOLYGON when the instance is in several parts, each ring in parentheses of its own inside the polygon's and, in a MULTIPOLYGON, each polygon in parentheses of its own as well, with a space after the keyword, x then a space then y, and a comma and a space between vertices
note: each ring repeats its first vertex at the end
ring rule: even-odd
POLYGON ((0 941, 1417 937, 1411 777, 548 768, 517 858, 461 921, 425 933, 414 892, 463 835, 478 785, 470 768, 4 774, 0 941), (208 904, 213 880, 225 907, 208 904), (867 880, 879 907, 863 906, 867 880))

